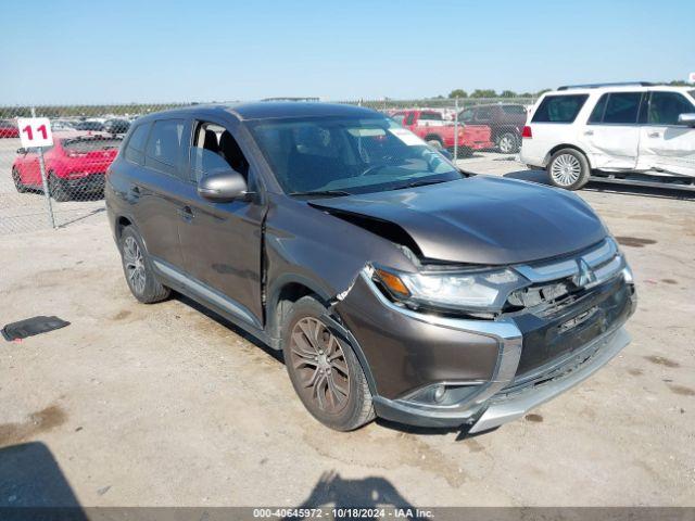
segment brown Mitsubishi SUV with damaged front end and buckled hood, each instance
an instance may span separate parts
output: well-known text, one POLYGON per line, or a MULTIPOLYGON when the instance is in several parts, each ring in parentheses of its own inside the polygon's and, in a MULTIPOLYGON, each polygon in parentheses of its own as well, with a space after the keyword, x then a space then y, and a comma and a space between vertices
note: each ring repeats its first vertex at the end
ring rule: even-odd
POLYGON ((175 290, 282 350, 333 429, 488 430, 629 342, 632 275, 581 199, 464 174, 370 110, 151 114, 105 193, 132 294, 175 290))

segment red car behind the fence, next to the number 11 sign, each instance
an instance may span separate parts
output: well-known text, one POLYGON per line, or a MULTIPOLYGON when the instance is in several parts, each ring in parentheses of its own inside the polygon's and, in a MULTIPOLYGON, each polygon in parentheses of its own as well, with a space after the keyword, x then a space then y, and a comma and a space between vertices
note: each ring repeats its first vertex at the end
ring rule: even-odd
MULTIPOLYGON (((43 149, 51 196, 68 201, 77 193, 103 191, 104 173, 118 153, 122 138, 75 132, 53 134, 53 147, 43 149)), ((20 149, 12 165, 12 179, 18 192, 42 189, 36 149, 20 149)))

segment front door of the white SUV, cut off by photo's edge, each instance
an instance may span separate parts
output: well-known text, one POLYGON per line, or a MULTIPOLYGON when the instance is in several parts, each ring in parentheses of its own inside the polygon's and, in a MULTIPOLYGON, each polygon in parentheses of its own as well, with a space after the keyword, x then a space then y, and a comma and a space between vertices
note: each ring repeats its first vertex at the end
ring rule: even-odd
POLYGON ((695 176, 695 128, 678 124, 678 116, 687 113, 695 113, 695 106, 681 92, 649 92, 640 127, 640 169, 695 176))

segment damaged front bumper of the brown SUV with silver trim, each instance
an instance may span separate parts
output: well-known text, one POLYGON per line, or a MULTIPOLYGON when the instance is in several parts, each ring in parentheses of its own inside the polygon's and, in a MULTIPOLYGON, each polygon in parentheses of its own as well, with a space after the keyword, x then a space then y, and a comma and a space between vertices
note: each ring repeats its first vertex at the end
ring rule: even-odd
MULTIPOLYGON (((623 309, 601 334, 522 374, 517 372, 526 327, 515 317, 477 320, 418 313, 387 298, 367 271, 336 309, 368 373, 378 417, 476 433, 522 417, 589 378, 628 345, 622 326, 634 312, 634 293, 624 283, 611 291, 620 295, 623 309), (468 385, 471 392, 447 405, 413 399, 414 390, 433 384, 468 385)), ((602 298, 615 307, 617 296, 602 298)), ((590 304, 595 303, 584 305, 590 304)))

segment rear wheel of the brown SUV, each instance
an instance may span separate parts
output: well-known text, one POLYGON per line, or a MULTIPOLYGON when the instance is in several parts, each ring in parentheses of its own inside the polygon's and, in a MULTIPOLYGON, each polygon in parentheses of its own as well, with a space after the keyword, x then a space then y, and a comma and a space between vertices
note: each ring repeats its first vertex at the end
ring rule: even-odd
POLYGON ((156 280, 142 238, 132 226, 124 228, 121 232, 118 250, 123 272, 132 296, 143 304, 154 304, 169 296, 172 290, 156 280))

